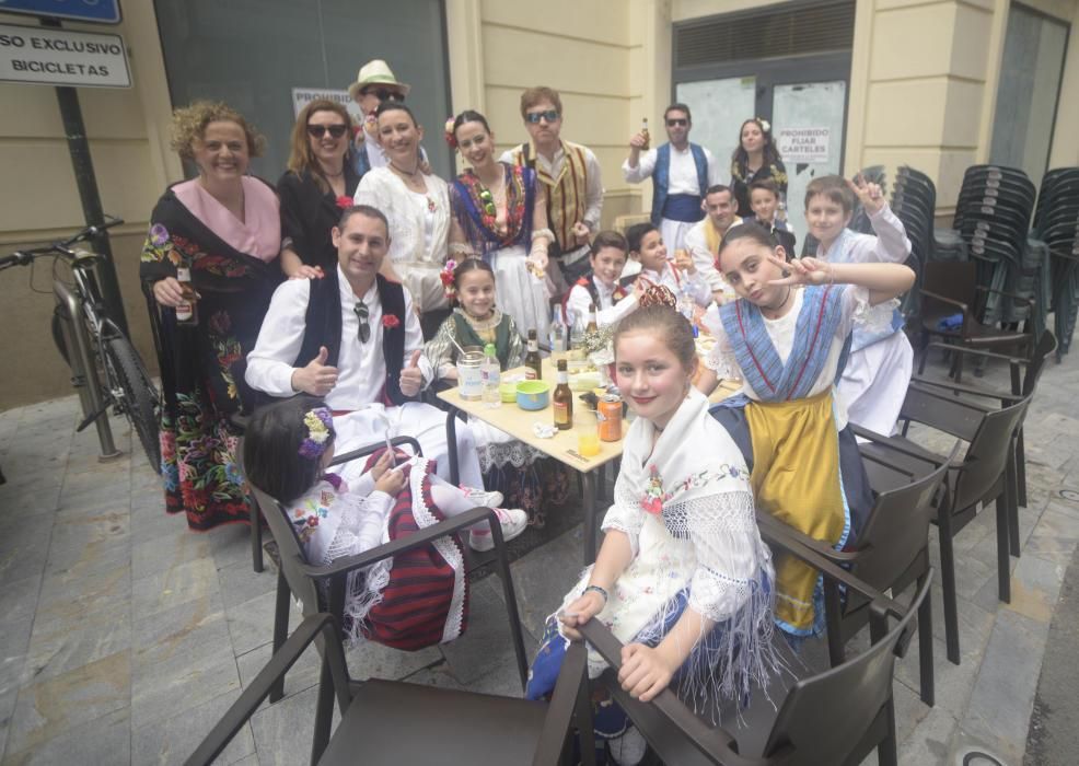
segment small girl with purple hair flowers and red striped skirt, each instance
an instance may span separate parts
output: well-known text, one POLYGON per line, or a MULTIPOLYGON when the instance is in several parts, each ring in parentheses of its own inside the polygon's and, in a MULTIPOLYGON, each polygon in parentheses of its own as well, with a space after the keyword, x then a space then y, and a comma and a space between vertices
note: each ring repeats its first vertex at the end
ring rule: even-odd
MULTIPOLYGON (((334 441, 330 410, 308 395, 259 408, 244 441, 247 479, 283 506, 314 566, 501 502, 497 492, 466 492, 442 480, 432 461, 386 449, 330 473, 334 441)), ((507 539, 524 531, 523 511, 495 512, 507 539)), ((472 535, 489 541, 487 522, 472 535)), ((349 574, 344 627, 353 641, 415 650, 460 636, 467 603, 464 554, 455 536, 440 537, 349 574)))

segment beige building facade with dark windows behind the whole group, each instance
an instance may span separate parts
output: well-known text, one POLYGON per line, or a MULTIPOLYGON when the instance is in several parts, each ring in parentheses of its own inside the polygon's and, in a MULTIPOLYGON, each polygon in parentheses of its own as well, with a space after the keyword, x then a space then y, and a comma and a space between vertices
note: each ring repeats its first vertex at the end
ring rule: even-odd
MULTIPOLYGON (((971 164, 1021 166, 1035 183, 1046 167, 1079 164, 1079 46, 1068 45, 1079 0, 128 0, 123 12, 118 27, 65 27, 118 32, 128 47, 132 88, 79 95, 104 209, 127 221, 113 249, 148 360, 138 253, 154 201, 185 175, 170 148, 173 106, 197 96, 236 106, 269 139, 253 172, 272 182, 293 89, 344 90, 372 58, 413 84, 408 102, 443 174, 454 166, 446 116, 483 112, 506 148, 526 138, 521 91, 557 89, 564 136, 603 166, 605 224, 648 209, 650 188, 623 182, 619 165, 641 118, 661 136, 676 98, 694 109, 694 139, 724 163, 747 117, 771 120, 793 152, 812 146, 815 155, 788 162, 796 221, 798 189, 819 173, 909 164, 936 181, 947 221, 971 164)), ((0 105, 7 253, 83 218, 53 89, 0 83, 0 105)), ((70 391, 48 333, 51 297, 38 292, 49 290, 47 271, 0 279, 0 355, 13 370, 0 408, 70 391)))

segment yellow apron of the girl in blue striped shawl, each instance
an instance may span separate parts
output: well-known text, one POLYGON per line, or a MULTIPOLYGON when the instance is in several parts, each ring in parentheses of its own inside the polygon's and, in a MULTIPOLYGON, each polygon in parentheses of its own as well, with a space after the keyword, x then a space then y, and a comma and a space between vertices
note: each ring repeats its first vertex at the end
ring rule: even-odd
MULTIPOLYGON (((814 539, 838 543, 846 514, 831 390, 793 402, 751 402, 745 417, 757 509, 814 539)), ((776 617, 798 631, 811 630, 817 570, 782 553, 775 567, 776 617)))

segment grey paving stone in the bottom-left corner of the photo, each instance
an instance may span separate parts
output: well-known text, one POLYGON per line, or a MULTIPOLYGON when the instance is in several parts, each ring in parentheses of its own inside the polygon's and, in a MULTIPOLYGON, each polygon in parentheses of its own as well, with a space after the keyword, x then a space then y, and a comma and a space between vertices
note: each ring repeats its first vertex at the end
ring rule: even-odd
POLYGON ((131 763, 129 708, 106 713, 80 726, 65 729, 48 740, 11 752, 5 764, 128 764, 131 763))

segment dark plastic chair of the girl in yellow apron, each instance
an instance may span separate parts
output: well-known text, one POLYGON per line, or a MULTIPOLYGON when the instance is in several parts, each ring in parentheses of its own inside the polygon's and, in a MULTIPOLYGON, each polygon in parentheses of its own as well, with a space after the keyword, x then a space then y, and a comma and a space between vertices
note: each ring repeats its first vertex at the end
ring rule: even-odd
MULTIPOLYGON (((959 444, 949 456, 951 463, 959 453, 959 444)), ((867 461, 871 461, 868 457, 867 461)), ((889 473, 894 469, 885 466, 889 473)), ((871 481, 874 471, 868 471, 871 481)), ((866 519, 857 545, 850 550, 833 550, 820 541, 813 539, 797 530, 789 533, 798 536, 809 548, 820 556, 848 568, 849 572, 878 591, 902 593, 912 583, 918 588, 929 576, 929 523, 933 506, 938 500, 948 466, 942 465, 921 478, 907 474, 892 476, 890 489, 877 494, 873 507, 866 519)), ((873 487, 878 489, 877 486, 873 487)), ((782 524, 774 517, 761 514, 758 523, 765 534, 771 537, 775 525, 782 524)), ((828 655, 832 665, 845 660, 844 647, 866 625, 869 624, 870 599, 857 590, 851 591, 844 601, 839 594, 839 583, 825 579, 825 610, 828 637, 828 655)), ((932 666, 932 610, 927 597, 918 615, 918 659, 921 674, 921 701, 930 707, 935 703, 932 666)))

